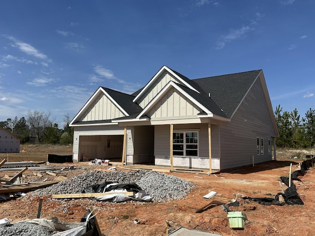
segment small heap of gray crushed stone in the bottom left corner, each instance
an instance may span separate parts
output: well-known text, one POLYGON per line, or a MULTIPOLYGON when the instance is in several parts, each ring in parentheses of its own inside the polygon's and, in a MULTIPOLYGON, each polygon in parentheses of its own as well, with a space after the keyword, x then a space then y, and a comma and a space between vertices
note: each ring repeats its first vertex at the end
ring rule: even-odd
POLYGON ((54 231, 32 223, 15 223, 0 226, 0 236, 50 236, 54 231))

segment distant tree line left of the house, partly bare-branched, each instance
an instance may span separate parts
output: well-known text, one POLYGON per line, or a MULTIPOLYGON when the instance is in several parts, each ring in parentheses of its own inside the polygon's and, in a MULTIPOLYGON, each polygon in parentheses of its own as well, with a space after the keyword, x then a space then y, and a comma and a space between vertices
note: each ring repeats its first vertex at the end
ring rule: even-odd
POLYGON ((70 127, 69 123, 69 115, 64 116, 63 128, 59 128, 50 112, 28 111, 26 118, 7 118, 0 121, 0 126, 19 137, 21 144, 32 141, 68 145, 73 143, 73 127, 70 127))

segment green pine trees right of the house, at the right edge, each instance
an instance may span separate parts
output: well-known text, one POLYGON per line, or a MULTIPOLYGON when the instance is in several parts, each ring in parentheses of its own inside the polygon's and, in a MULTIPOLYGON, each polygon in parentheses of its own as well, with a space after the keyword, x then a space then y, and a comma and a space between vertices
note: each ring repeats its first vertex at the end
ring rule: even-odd
POLYGON ((276 138, 277 147, 315 147, 315 110, 310 108, 305 117, 301 118, 296 108, 292 112, 287 112, 278 105, 275 118, 279 131, 279 137, 276 138))

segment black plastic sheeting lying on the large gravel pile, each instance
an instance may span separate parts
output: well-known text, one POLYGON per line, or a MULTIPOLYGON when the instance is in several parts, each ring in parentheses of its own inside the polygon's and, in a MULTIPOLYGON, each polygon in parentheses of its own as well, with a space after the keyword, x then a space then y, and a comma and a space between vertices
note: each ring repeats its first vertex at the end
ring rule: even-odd
MULTIPOLYGON (((94 185, 88 186, 83 190, 83 193, 103 193, 104 188, 108 184, 111 184, 111 183, 113 183, 113 182, 107 182, 106 181, 102 184, 94 184, 94 185)), ((115 189, 126 189, 128 192, 134 192, 134 193, 138 193, 142 190, 135 183, 124 183, 124 184, 111 185, 111 186, 106 188, 105 192, 109 192, 109 191, 115 190, 115 189)))

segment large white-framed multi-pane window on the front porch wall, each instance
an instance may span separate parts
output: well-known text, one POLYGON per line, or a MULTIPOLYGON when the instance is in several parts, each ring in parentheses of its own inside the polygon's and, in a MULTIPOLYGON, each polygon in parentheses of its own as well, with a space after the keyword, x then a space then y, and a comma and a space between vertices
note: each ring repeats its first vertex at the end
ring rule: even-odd
POLYGON ((198 156, 198 131, 173 132, 173 155, 198 156))

